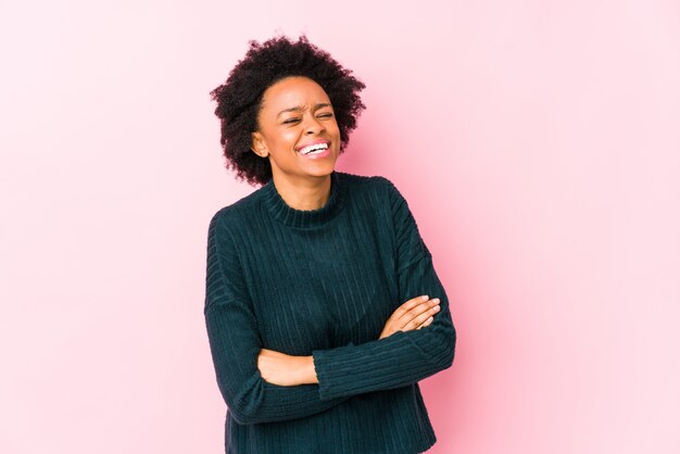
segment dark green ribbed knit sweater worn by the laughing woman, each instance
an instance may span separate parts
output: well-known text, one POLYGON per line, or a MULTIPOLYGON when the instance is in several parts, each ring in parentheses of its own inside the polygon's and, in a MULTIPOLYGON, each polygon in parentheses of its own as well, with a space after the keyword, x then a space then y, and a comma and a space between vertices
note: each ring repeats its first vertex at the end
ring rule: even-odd
POLYGON ((383 177, 331 174, 314 211, 270 180, 219 210, 207 239, 205 321, 234 454, 413 454, 435 432, 418 380, 451 366, 449 301, 406 201, 383 177), (440 298, 420 330, 378 340, 407 300, 440 298), (318 384, 279 387, 260 349, 313 355, 318 384))

